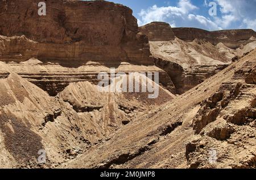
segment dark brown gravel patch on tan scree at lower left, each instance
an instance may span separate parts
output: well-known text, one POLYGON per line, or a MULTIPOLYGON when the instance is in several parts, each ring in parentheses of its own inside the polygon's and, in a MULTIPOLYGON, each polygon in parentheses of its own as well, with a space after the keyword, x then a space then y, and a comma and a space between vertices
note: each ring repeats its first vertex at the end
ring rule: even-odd
POLYGON ((43 149, 41 137, 30 128, 11 112, 1 111, 0 129, 5 137, 6 149, 21 164, 37 159, 39 150, 43 149))

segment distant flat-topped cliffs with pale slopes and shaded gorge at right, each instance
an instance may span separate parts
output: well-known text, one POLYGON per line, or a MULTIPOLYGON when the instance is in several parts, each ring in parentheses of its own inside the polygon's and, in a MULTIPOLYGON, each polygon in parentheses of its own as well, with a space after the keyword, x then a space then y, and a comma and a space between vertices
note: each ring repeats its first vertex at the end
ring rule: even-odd
POLYGON ((209 32, 171 28, 162 22, 146 24, 139 30, 148 36, 155 65, 169 74, 177 94, 195 87, 226 68, 232 58, 240 58, 256 47, 253 30, 209 32))

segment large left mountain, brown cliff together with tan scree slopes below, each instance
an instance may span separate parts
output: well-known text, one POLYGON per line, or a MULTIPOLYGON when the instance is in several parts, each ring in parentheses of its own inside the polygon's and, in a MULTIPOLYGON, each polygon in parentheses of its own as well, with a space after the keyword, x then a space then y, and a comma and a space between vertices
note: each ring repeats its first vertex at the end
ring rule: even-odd
POLYGON ((47 14, 39 16, 38 2, 0 1, 1 168, 55 168, 175 98, 129 8, 46 1, 47 14), (98 74, 111 68, 115 74, 158 72, 158 97, 99 91, 98 74), (45 164, 38 163, 40 152, 45 164))

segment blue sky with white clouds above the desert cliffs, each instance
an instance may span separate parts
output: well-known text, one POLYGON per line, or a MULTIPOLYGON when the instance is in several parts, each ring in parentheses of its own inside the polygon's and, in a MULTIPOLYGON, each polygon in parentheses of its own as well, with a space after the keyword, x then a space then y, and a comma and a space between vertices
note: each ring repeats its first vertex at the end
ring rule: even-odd
POLYGON ((205 30, 251 28, 256 31, 256 0, 109 0, 133 10, 139 26, 162 21, 172 27, 205 30), (209 15, 209 3, 216 15, 209 15))

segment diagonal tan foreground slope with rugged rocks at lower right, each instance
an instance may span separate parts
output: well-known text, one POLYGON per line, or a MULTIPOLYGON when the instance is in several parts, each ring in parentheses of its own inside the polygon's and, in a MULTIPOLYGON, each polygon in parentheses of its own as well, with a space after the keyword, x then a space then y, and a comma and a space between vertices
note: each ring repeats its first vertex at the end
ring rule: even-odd
POLYGON ((255 57, 256 50, 61 168, 255 168, 256 86, 245 82, 255 57))

